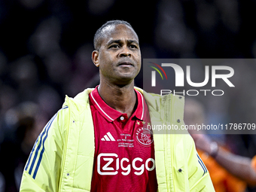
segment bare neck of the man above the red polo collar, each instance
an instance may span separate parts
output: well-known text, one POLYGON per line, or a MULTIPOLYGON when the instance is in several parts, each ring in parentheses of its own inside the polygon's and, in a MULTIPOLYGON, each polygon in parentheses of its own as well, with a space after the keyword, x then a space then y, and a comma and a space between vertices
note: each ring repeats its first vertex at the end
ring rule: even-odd
POLYGON ((133 114, 137 99, 134 82, 125 86, 101 83, 98 91, 104 102, 111 108, 126 113, 128 117, 133 114))

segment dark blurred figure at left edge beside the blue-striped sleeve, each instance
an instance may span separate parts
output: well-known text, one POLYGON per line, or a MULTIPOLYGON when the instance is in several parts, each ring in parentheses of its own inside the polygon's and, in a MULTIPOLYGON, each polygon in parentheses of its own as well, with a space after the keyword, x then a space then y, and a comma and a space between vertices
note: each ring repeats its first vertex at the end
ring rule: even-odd
MULTIPOLYGON (((9 109, 2 123, 2 134, 5 139, 0 145, 0 172, 4 178, 4 190, 16 192, 20 188, 20 180, 29 157, 29 152, 47 117, 34 102, 22 102, 9 109)), ((0 182, 1 183, 1 182, 0 182)))

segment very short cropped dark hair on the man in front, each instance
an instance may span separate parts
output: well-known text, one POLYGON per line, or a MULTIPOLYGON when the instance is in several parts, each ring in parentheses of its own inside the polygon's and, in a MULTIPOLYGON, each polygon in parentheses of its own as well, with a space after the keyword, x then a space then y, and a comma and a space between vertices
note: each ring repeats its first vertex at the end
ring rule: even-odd
MULTIPOLYGON (((94 38, 93 38, 93 45, 94 45, 94 49, 95 50, 99 50, 100 45, 101 45, 101 41, 102 41, 102 37, 103 37, 103 29, 105 29, 105 27, 107 26, 117 26, 117 25, 126 25, 129 26, 131 29, 133 29, 133 27, 131 26, 130 23, 124 21, 124 20, 109 20, 106 23, 104 23, 95 33, 94 38)), ((134 29, 133 29, 134 31, 134 29)))

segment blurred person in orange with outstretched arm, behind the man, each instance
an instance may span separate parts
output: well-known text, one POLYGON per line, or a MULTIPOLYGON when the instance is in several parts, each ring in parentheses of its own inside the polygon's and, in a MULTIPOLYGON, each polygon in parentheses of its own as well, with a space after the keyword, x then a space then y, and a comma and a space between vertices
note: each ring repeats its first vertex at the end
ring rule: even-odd
MULTIPOLYGON (((195 99, 186 99, 184 122, 187 125, 206 124, 204 116, 202 103, 195 99)), ((246 185, 256 186, 256 157, 251 160, 233 154, 227 145, 213 141, 206 135, 207 133, 199 133, 197 130, 189 132, 196 143, 200 157, 209 169, 216 192, 255 191, 255 189, 246 190, 246 185)))

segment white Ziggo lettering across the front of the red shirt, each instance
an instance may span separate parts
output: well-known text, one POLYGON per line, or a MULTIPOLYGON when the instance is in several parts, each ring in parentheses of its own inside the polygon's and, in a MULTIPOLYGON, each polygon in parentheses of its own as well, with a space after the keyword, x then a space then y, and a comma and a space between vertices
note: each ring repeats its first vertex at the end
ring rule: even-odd
POLYGON ((134 172, 135 175, 142 175, 145 169, 148 171, 154 170, 155 164, 154 159, 148 158, 148 160, 143 162, 142 158, 136 157, 131 163, 130 160, 126 157, 123 157, 121 160, 119 160, 119 157, 117 154, 99 154, 97 157, 97 171, 99 175, 117 175, 119 168, 122 169, 122 175, 129 175, 131 172, 131 166, 133 169, 136 170, 134 172), (101 161, 103 160, 104 166, 101 164, 101 161), (111 163, 113 163, 115 160, 115 166, 111 166, 111 163), (138 163, 141 164, 141 166, 138 166, 138 163), (151 162, 151 163, 150 163, 151 162), (124 166, 126 164, 126 166, 124 166), (137 166, 136 166, 137 164, 137 166), (151 167, 149 167, 149 164, 151 164, 151 167))

